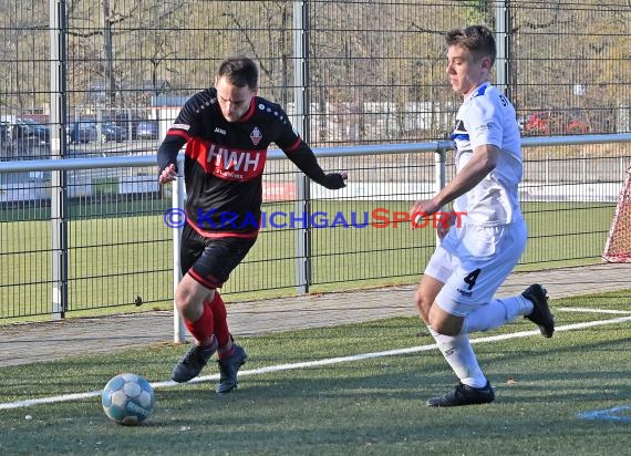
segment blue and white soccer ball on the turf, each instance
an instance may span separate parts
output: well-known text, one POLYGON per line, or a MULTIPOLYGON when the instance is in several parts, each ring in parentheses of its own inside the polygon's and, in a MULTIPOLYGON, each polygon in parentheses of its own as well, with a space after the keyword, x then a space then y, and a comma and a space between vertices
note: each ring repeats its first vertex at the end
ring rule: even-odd
POLYGON ((113 422, 135 426, 151 415, 155 405, 154 390, 139 375, 118 374, 105 385, 101 405, 113 422))

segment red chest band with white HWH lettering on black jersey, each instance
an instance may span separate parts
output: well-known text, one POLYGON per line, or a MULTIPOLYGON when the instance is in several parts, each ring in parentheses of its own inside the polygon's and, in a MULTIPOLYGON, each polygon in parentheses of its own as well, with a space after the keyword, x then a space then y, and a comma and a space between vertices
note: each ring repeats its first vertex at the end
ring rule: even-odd
POLYGON ((186 144, 186 156, 196 160, 206 174, 224 180, 246 182, 262 173, 267 149, 229 149, 194 137, 186 144))

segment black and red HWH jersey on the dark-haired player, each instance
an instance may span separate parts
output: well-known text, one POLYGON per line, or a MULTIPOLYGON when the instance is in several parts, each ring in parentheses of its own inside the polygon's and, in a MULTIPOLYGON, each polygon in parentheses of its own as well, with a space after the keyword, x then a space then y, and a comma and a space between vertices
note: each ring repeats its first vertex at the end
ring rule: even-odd
MULTIPOLYGON (((161 170, 175 163, 183 144, 177 137, 186 141, 187 219, 208 237, 257 235, 270 143, 289 158, 304 149, 312 156, 278 104, 255 96, 238 122, 228 122, 215 89, 197 93, 179 112, 158 151, 161 170), (169 143, 176 147, 165 147, 169 143)), ((321 180, 323 176, 318 166, 314 177, 321 180)))

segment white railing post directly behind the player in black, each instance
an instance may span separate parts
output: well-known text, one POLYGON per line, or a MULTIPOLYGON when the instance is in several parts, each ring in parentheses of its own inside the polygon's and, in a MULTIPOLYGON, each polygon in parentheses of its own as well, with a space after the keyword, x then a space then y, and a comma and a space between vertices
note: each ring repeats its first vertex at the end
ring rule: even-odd
MULTIPOLYGON (((184 209, 183 156, 177 157, 177 180, 172 184, 170 206, 173 209, 184 209)), ((179 251, 182 250, 182 224, 173 224, 173 341, 176 343, 183 343, 186 341, 184 320, 175 305, 175 292, 179 281, 182 280, 182 263, 179 261, 179 251)))

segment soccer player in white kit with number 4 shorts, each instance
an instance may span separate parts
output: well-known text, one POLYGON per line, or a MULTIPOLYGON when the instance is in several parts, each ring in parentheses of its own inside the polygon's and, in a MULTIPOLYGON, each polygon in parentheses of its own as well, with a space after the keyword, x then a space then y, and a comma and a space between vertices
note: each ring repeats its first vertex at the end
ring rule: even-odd
POLYGON ((445 360, 458 376, 455 391, 427 401, 430 406, 485 404, 495 392, 482 372, 468 334, 488 331, 525 315, 550 338, 555 321, 546 290, 538 283, 521 294, 494 294, 524 252, 527 227, 517 185, 523 160, 513 104, 490 85, 496 45, 486 27, 447 32, 447 74, 464 102, 452 139, 456 175, 432 199, 417 200, 418 213, 432 215, 453 201, 462 224, 438 226, 442 242, 430 259, 415 303, 445 360))

